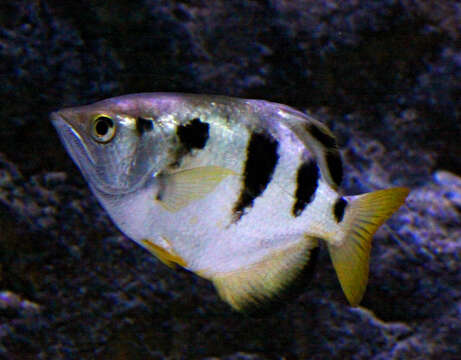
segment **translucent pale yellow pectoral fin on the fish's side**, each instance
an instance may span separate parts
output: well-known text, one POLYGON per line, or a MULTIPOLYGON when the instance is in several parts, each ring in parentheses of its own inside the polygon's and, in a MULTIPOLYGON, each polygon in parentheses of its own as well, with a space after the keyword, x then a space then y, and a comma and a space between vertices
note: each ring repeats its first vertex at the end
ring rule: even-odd
POLYGON ((169 212, 176 212, 204 198, 235 171, 219 166, 203 166, 165 175, 165 189, 157 199, 169 212))

